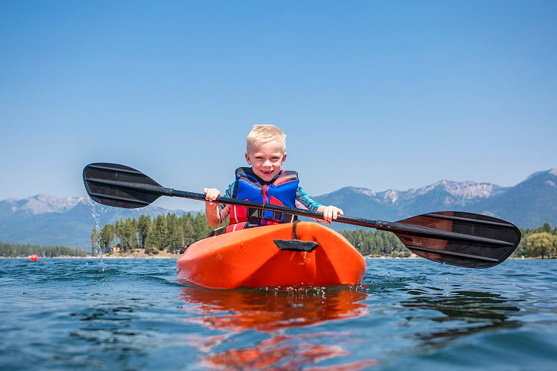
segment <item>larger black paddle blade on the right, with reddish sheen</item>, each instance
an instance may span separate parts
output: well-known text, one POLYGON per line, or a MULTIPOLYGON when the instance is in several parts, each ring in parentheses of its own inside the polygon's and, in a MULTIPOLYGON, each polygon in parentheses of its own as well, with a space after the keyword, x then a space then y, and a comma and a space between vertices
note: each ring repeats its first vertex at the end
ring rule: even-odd
POLYGON ((399 223, 425 227, 423 233, 395 232, 417 255, 467 268, 498 265, 515 251, 521 237, 519 229, 508 221, 468 212, 432 212, 399 223))

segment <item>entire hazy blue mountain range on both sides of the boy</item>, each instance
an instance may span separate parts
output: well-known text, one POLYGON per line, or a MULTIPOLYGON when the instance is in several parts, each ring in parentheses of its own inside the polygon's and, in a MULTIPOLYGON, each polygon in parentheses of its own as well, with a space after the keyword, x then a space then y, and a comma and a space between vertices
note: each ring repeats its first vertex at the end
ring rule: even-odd
MULTIPOLYGON (((530 175, 515 187, 477 182, 440 182, 407 191, 374 192, 344 187, 313 197, 324 205, 336 205, 345 215, 365 219, 397 221, 409 216, 454 210, 505 219, 523 228, 543 223, 557 225, 557 168, 530 175)), ((18 244, 90 246, 91 230, 118 219, 151 217, 183 210, 161 207, 120 209, 93 203, 88 197, 56 198, 37 195, 0 201, 0 242, 18 244)), ((196 212, 194 212, 196 213, 196 212)), ((336 230, 353 228, 333 223, 336 230)))

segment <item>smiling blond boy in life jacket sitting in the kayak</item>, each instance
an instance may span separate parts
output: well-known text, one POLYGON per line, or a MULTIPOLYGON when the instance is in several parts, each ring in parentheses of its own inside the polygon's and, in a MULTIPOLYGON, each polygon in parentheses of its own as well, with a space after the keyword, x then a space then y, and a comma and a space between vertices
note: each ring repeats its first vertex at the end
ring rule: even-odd
MULTIPOLYGON (((253 125, 246 142, 245 157, 251 168, 237 168, 236 180, 226 189, 226 197, 322 212, 327 224, 338 215, 343 215, 343 210, 338 207, 324 206, 312 200, 299 187, 295 171, 281 169, 286 159, 286 135, 281 129, 274 125, 253 125)), ((218 226, 230 216, 230 226, 226 232, 294 220, 292 215, 269 210, 213 203, 221 196, 221 192, 215 188, 205 188, 203 193, 206 196, 205 216, 211 226, 218 226)))

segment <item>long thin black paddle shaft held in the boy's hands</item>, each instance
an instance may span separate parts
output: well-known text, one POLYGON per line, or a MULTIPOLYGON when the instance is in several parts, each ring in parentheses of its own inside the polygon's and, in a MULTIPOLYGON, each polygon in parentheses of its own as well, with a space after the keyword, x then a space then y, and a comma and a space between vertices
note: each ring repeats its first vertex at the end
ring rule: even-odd
MULTIPOLYGON (((176 189, 155 186, 150 184, 136 184, 130 182, 120 182, 118 180, 106 180, 106 179, 87 179, 88 182, 93 182, 97 184, 104 184, 107 186, 113 186, 123 189, 130 189, 132 191, 141 191, 146 194, 153 194, 158 196, 169 196, 169 197, 180 197, 189 198, 191 200, 205 200, 205 194, 198 194, 196 192, 189 191, 178 191, 176 189)), ((226 205, 235 205, 243 207, 253 207, 261 210, 270 210, 272 212, 283 212, 286 214, 295 214, 299 216, 306 216, 308 218, 323 219, 323 214, 320 212, 313 212, 311 210, 303 210, 295 207, 288 207, 283 205, 272 205, 269 203, 258 203, 249 200, 239 200, 237 198, 219 197, 213 201, 214 203, 223 203, 226 205)), ((447 230, 438 230, 434 228, 428 228, 423 226, 415 226, 400 222, 390 222, 390 221, 374 221, 362 218, 355 218, 352 216, 342 216, 339 215, 337 219, 334 219, 338 223, 352 224, 354 226, 363 226, 369 228, 375 228, 378 230, 386 230, 389 232, 394 232, 396 234, 402 235, 414 235, 420 237, 443 237, 449 239, 459 239, 466 242, 479 242, 485 244, 494 244, 499 246, 512 246, 512 243, 501 241, 499 239, 490 239, 486 237, 479 237, 474 235, 466 235, 457 232, 450 232, 447 230)), ((485 221, 486 224, 497 225, 498 223, 485 221)))

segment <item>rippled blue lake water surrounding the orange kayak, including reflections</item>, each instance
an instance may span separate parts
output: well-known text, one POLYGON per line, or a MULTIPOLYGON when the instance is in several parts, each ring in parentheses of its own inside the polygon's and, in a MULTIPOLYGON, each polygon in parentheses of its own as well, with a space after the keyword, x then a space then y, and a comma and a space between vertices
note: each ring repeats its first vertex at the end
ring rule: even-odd
POLYGON ((175 259, 1 259, 0 369, 557 370, 557 261, 367 263, 358 287, 227 291, 175 259))

